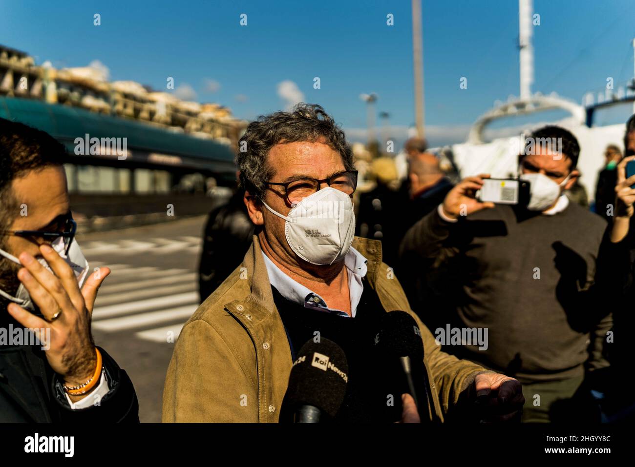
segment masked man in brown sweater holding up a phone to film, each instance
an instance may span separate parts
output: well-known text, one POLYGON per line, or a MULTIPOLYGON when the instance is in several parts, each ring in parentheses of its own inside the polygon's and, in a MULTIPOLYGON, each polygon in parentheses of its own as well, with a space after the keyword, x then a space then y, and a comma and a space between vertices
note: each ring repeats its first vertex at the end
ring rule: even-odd
POLYGON ((488 331, 486 345, 446 338, 443 349, 517 378, 523 420, 547 422, 575 412, 565 401, 585 368, 608 365, 602 350, 612 316, 593 306, 606 223, 563 194, 578 176, 578 142, 556 126, 531 138, 558 145, 519 155, 519 180, 530 185, 525 204, 479 201, 489 175, 467 177, 408 231, 400 254, 445 272, 446 326, 488 331))

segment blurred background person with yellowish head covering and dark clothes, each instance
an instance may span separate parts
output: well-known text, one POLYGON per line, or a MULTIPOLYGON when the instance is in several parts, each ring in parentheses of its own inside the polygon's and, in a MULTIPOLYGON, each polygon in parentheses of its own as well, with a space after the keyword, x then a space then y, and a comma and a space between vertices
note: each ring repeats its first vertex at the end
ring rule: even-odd
POLYGON ((382 240, 385 262, 395 264, 403 232, 399 230, 399 181, 394 161, 378 157, 371 162, 371 173, 376 186, 359 196, 356 235, 382 240))

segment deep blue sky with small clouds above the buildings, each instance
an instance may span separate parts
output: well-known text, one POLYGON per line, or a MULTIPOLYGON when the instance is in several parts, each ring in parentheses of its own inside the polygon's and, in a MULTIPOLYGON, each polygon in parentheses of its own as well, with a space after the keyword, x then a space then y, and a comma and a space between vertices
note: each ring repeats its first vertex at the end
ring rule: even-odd
MULTIPOLYGON (((607 77, 632 76, 633 0, 533 6, 540 14, 533 91, 580 102, 607 77)), ((462 138, 495 100, 518 95, 518 1, 423 0, 422 8, 425 122, 431 139, 462 138), (461 77, 467 89, 459 88, 461 77)), ((413 124, 410 15, 408 0, 0 0, 0 44, 56 67, 98 60, 111 80, 159 90, 171 76, 184 96, 246 119, 302 97, 323 105, 355 140, 366 124, 360 93, 378 94, 377 110, 391 115, 395 133, 413 124), (239 25, 241 13, 247 26, 239 25), (388 13, 394 26, 386 25, 388 13), (316 76, 321 89, 313 88, 316 76), (279 92, 284 81, 297 86, 284 86, 288 99, 279 92)))

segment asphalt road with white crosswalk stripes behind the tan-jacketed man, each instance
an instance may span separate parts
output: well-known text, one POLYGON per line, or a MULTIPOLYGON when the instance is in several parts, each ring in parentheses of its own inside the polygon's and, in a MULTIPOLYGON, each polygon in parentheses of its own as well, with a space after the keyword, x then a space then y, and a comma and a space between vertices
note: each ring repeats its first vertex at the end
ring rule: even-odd
POLYGON ((93 310, 93 336, 128 372, 142 422, 161 421, 178 333, 199 303, 205 216, 77 236, 90 263, 112 269, 93 310))

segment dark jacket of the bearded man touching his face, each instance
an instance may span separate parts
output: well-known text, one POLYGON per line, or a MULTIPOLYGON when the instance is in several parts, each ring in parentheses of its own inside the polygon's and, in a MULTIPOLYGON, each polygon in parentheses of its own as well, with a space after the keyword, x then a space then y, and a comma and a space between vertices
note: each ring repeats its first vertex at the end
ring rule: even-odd
POLYGON ((132 381, 104 349, 98 349, 110 391, 99 405, 74 410, 39 345, 0 346, 0 423, 138 423, 139 405, 132 381))

